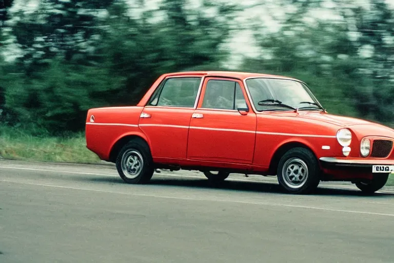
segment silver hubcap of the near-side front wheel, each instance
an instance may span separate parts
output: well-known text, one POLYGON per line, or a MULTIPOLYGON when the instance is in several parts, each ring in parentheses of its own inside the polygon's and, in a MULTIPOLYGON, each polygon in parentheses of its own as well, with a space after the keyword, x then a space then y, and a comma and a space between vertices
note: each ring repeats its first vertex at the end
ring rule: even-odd
POLYGON ((302 187, 308 178, 308 174, 308 166, 300 158, 287 160, 282 168, 282 176, 286 185, 293 189, 302 187))

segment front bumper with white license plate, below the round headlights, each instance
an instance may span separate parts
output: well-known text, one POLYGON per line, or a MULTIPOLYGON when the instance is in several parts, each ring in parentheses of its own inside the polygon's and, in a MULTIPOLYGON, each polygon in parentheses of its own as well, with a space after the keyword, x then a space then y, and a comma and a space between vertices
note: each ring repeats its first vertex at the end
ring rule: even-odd
POLYGON ((332 170, 350 170, 362 173, 394 173, 393 159, 321 157, 319 160, 323 168, 332 170))

